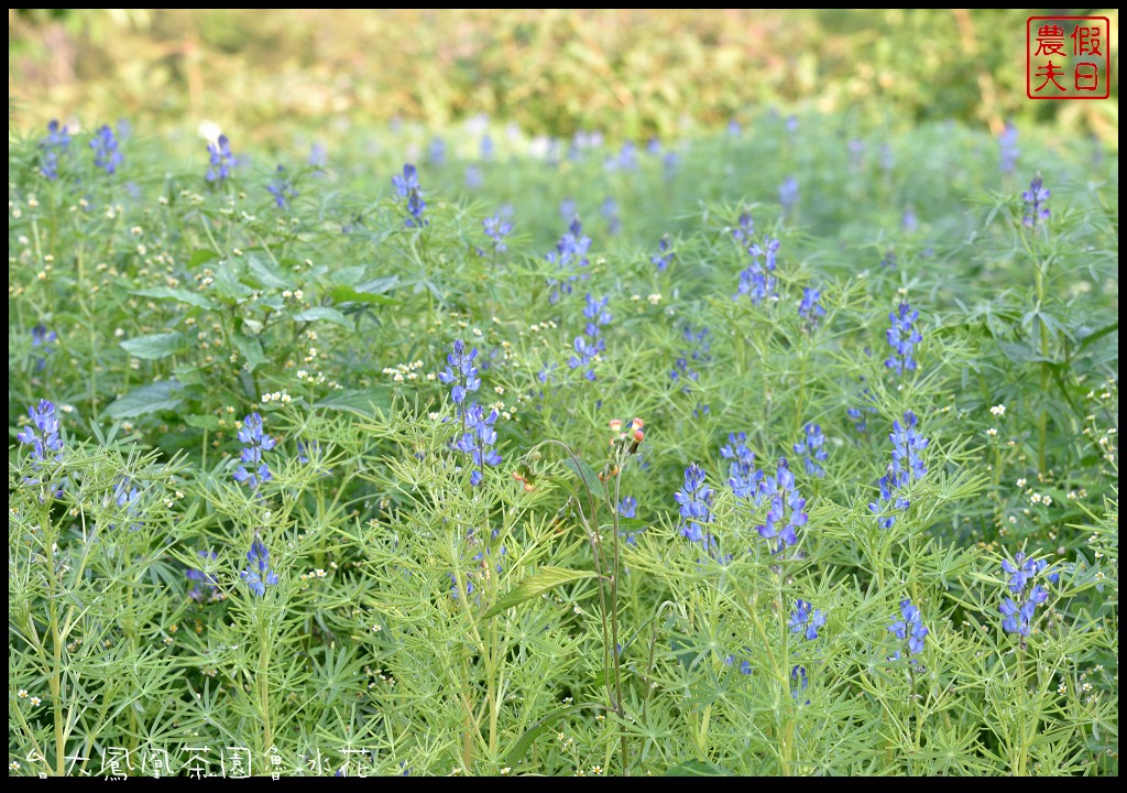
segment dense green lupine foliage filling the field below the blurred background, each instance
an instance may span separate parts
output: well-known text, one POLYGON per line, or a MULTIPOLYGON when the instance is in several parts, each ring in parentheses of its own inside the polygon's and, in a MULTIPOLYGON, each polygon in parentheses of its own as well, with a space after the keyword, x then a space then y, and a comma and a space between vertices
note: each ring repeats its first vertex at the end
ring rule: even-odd
POLYGON ((11 143, 10 770, 1117 774, 1117 157, 746 122, 316 164, 232 134, 225 179, 143 129, 113 174, 88 134, 11 143), (472 399, 498 465, 456 448, 472 399), (773 553, 780 458, 808 521, 773 553), (1028 635, 1003 561, 1044 584, 1028 635))

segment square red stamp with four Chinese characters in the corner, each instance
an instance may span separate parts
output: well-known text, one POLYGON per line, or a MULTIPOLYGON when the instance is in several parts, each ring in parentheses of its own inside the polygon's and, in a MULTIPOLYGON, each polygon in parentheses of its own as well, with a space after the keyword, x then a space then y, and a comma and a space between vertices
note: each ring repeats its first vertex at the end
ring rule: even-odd
POLYGON ((1111 96, 1110 37, 1107 17, 1029 17, 1026 96, 1107 99, 1111 96))

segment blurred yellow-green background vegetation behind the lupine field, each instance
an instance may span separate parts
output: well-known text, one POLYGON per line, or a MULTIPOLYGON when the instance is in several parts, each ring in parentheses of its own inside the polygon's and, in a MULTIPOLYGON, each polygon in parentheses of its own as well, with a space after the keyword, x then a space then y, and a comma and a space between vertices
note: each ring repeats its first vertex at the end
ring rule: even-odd
POLYGON ((126 118, 240 139, 487 114, 663 139, 780 113, 1050 124, 1118 150, 1118 11, 9 9, 9 130, 126 118), (1111 18, 1111 98, 1026 98, 1026 18, 1111 18))

